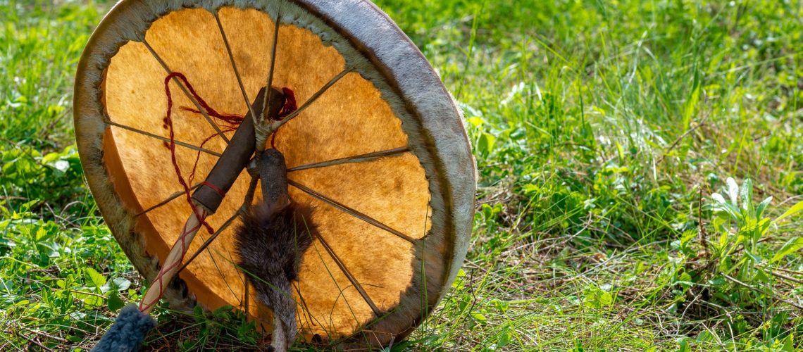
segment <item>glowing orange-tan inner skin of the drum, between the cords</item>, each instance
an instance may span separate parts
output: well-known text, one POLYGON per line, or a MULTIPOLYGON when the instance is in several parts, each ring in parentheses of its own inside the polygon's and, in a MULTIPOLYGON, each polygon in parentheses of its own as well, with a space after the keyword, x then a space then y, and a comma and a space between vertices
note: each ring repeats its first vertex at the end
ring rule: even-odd
MULTIPOLYGON (((259 88, 266 84, 273 22, 267 14, 256 10, 224 8, 219 14, 247 95, 254 99, 259 88)), ((211 107, 241 115, 247 111, 209 11, 186 9, 168 14, 153 23, 145 39, 173 71, 187 76, 211 107)), ((295 26, 280 26, 274 86, 291 88, 299 104, 343 70, 344 59, 332 47, 325 47, 318 36, 295 26)), ((109 118, 115 123, 168 136, 163 126, 165 75, 164 68, 145 44, 125 44, 112 58, 104 82, 109 118)), ((198 145, 212 136, 214 129, 201 115, 178 109, 194 105, 175 83, 171 83, 171 88, 176 139, 198 145)), ((120 127, 112 127, 112 134, 137 208, 149 208, 181 190, 169 150, 161 141, 120 127)), ((406 145, 407 136, 400 120, 373 84, 357 73, 335 83, 311 107, 282 127, 276 138, 276 147, 286 156, 289 168, 406 145)), ((215 138, 205 148, 222 152, 225 146, 225 142, 215 138)), ((181 170, 188 176, 196 152, 182 147, 177 147, 176 152, 181 170)), ((215 160, 214 156, 201 154, 197 181, 209 172, 215 160)), ((412 154, 291 172, 290 178, 410 237, 421 238, 430 228, 429 184, 412 154)), ((247 179, 243 173, 218 213, 208 218, 215 229, 242 203, 247 179)), ((397 305, 413 275, 414 253, 410 242, 320 200, 312 200, 296 188, 291 188, 291 195, 316 207, 315 220, 322 236, 379 309, 389 310, 397 305)), ((137 228, 145 232, 148 252, 163 259, 188 214, 188 205, 181 196, 140 216, 137 228), (139 224, 142 221, 149 224, 139 224)), ((232 229, 222 233, 210 251, 181 274, 198 301, 212 309, 222 303, 243 305, 243 274, 233 265, 237 258, 233 257, 232 229)), ((202 237, 191 246, 190 253, 208 237, 205 232, 199 234, 202 237)), ((318 243, 304 257, 300 293, 305 303, 299 312, 300 326, 307 335, 343 336, 373 317, 372 310, 318 243)), ((296 298, 300 301, 297 293, 296 298)), ((253 303, 255 298, 250 301, 253 303)), ((251 313, 258 314, 256 309, 251 313)), ((267 315, 259 315, 269 326, 267 315)))

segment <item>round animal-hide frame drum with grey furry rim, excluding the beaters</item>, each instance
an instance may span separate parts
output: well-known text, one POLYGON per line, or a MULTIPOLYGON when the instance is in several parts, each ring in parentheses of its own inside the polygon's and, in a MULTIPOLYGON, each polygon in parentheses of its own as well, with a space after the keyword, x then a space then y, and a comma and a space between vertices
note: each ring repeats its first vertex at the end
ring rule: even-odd
MULTIPOLYGON (((438 75, 370 2, 118 3, 92 35, 75 82, 76 138, 92 193, 126 255, 153 280, 190 214, 165 141, 165 76, 180 72, 214 110, 248 118, 247 99, 266 86, 274 45, 273 86, 294 91, 303 109, 279 128, 275 148, 303 186, 290 187, 291 196, 312 204, 325 241, 313 242, 300 268, 300 336, 353 346, 398 341, 434 308, 465 257, 475 167, 438 75)), ((195 167, 198 183, 226 140, 190 111, 198 108, 184 86, 169 87, 177 164, 185 177, 195 167)), ((240 175, 207 218, 212 228, 238 211, 249 180, 240 175)), ((237 222, 181 271, 165 299, 177 309, 248 307, 270 330, 270 311, 235 265, 237 222)), ((202 229, 188 253, 209 236, 202 229)))

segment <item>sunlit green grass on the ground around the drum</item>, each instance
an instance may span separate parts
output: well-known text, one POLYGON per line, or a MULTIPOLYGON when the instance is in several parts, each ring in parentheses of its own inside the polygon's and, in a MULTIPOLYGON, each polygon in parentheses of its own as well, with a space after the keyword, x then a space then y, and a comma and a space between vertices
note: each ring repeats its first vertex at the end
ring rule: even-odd
MULTIPOLYGON (((92 346, 144 284, 70 147, 108 4, 55 4, 0 0, 0 350, 92 346)), ((803 3, 377 4, 480 171, 463 272, 397 350, 803 349, 803 217, 775 221, 803 200, 803 3)), ((160 312, 149 346, 259 346, 226 312, 160 312)))

